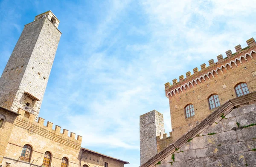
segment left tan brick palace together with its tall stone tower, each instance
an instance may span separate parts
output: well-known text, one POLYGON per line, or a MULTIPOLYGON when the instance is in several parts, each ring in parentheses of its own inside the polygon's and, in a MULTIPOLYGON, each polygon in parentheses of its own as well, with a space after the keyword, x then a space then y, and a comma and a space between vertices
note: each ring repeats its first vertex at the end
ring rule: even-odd
POLYGON ((0 167, 123 167, 129 162, 82 148, 81 136, 38 118, 58 24, 47 11, 25 25, 0 78, 0 167))

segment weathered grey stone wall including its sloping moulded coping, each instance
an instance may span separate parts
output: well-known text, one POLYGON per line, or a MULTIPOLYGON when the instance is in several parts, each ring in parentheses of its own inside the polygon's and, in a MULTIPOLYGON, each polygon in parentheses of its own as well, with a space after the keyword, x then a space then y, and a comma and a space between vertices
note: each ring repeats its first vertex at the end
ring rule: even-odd
POLYGON ((240 161, 229 164, 236 153, 242 154, 245 166, 254 167, 248 155, 255 159, 255 149, 248 143, 255 144, 256 139, 255 102, 256 91, 228 100, 140 167, 239 167, 240 161), (244 142, 247 146, 241 148, 244 142), (214 159, 224 159, 224 164, 214 159))

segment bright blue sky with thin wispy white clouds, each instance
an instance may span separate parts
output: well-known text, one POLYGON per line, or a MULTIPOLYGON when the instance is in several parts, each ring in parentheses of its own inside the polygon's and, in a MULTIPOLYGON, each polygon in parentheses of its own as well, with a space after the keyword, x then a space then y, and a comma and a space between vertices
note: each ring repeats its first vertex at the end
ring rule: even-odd
POLYGON ((256 0, 0 0, 0 74, 48 10, 63 34, 40 116, 126 167, 140 165, 140 115, 158 110, 172 129, 166 82, 256 38, 256 0))

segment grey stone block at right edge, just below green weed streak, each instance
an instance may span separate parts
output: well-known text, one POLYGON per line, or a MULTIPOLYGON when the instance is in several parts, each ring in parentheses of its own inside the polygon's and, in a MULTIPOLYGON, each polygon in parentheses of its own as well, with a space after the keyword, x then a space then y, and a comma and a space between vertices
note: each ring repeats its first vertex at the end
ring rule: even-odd
POLYGON ((253 138, 256 138, 256 126, 238 129, 236 130, 236 135, 239 142, 245 140, 252 140, 253 138))

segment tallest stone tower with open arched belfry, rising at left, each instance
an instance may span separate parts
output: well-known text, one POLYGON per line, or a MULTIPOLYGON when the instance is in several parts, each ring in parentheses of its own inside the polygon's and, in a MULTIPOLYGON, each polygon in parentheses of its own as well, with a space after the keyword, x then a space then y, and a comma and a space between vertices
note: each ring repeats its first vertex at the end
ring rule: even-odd
POLYGON ((38 118, 52 63, 61 37, 52 11, 25 25, 0 78, 0 106, 23 108, 38 118))

